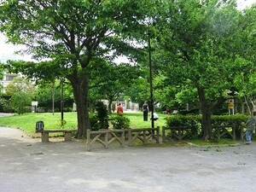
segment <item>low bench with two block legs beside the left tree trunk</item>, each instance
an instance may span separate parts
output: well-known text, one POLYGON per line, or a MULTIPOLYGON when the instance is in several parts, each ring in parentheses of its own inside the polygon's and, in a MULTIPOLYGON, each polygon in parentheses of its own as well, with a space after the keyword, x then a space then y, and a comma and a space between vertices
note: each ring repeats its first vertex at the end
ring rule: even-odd
POLYGON ((58 133, 62 132, 64 134, 65 142, 71 141, 72 132, 76 132, 77 130, 40 130, 36 131, 38 133, 41 133, 42 136, 42 142, 47 143, 49 142, 49 133, 58 133))

